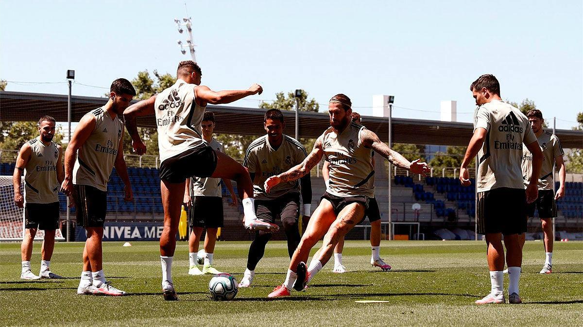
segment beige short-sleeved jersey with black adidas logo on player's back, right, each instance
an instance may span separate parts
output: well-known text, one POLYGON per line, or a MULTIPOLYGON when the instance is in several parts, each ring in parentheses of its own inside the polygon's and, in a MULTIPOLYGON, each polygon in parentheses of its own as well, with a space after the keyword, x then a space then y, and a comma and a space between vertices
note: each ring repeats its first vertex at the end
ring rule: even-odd
POLYGON ((487 131, 478 153, 477 191, 524 189, 522 149, 536 141, 528 118, 510 104, 493 100, 476 108, 474 131, 477 128, 487 131))

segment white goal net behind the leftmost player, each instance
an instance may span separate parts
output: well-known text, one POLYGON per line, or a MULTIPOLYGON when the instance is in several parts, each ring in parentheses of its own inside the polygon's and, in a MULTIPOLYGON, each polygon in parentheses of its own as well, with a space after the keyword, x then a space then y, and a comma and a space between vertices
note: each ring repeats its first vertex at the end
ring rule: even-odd
MULTIPOLYGON (((24 236, 24 209, 14 203, 13 185, 12 176, 0 176, 0 241, 20 241, 24 236)), ((20 190, 23 188, 24 177, 20 182, 20 190)), ((34 240, 43 238, 44 231, 37 230, 34 240)), ((55 233, 55 240, 65 240, 60 229, 55 233)))

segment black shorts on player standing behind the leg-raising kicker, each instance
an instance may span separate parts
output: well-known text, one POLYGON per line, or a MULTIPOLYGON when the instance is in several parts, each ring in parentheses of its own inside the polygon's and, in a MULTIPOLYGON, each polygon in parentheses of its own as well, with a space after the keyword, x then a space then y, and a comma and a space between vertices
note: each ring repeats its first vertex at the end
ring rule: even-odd
POLYGON ((220 196, 192 196, 188 208, 188 226, 223 227, 223 198, 220 196))

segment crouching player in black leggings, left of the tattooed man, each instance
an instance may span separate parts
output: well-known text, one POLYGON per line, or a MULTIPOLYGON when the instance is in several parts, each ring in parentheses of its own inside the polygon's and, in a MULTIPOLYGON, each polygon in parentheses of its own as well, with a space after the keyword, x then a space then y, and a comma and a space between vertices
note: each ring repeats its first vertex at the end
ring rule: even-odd
MULTIPOLYGON (((307 153, 298 140, 283 133, 286 123, 277 109, 265 112, 264 128, 267 135, 251 142, 245 154, 243 165, 249 169, 255 194, 255 211, 258 219, 275 223, 276 217, 282 221, 287 238, 287 253, 290 256, 300 243, 298 216, 300 215, 300 193, 304 202, 304 217, 310 216, 312 185, 310 174, 298 181, 289 181, 265 192, 264 183, 268 177, 287 171, 304 161, 307 153)), ((249 247, 247 269, 239 287, 249 287, 255 277, 255 267, 264 255, 265 245, 271 233, 257 231, 249 247)))

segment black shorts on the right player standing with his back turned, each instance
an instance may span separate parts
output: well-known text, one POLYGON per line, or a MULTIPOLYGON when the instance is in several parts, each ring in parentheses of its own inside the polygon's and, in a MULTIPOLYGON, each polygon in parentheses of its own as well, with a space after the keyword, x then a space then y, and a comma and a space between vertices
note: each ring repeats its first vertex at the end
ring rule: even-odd
POLYGON ((526 192, 521 188, 495 188, 477 194, 477 232, 504 235, 526 232, 526 192))

